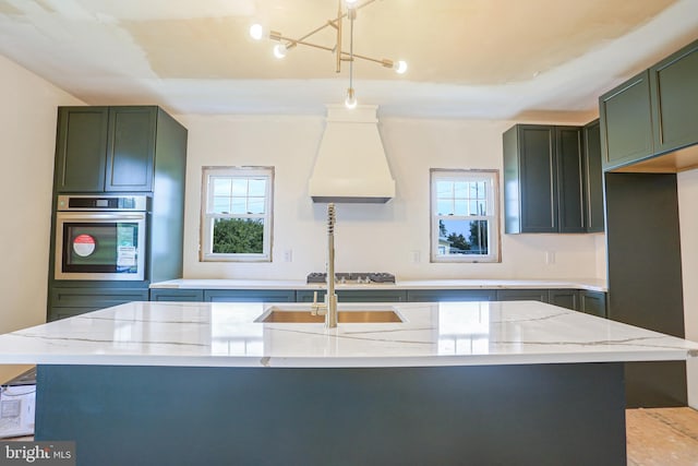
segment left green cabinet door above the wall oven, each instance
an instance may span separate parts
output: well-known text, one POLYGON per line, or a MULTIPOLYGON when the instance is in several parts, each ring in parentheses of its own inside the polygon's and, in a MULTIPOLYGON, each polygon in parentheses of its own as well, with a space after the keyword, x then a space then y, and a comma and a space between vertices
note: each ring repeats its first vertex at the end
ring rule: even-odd
POLYGON ((56 142, 56 192, 105 188, 108 107, 60 107, 56 142))

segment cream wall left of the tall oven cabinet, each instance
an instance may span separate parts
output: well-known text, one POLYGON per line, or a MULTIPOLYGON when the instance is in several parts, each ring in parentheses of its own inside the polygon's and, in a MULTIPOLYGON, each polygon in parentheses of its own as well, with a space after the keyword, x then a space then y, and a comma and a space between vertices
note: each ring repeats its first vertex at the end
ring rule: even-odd
POLYGON ((83 103, 2 56, 0 101, 1 334, 46 322, 57 106, 83 103))

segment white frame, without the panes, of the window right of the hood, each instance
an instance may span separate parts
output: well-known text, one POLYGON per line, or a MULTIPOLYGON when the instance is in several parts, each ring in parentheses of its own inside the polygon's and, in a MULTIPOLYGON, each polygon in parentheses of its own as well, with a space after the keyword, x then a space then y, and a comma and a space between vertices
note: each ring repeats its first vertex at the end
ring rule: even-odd
POLYGON ((500 170, 485 170, 485 169, 444 169, 432 168, 430 170, 430 262, 432 263, 480 263, 480 262, 502 262, 502 237, 500 228, 500 170), (458 254, 458 255, 440 255, 438 254, 438 220, 442 216, 436 215, 436 179, 486 179, 491 181, 492 192, 488 195, 489 204, 488 212, 491 215, 449 215, 443 216, 448 219, 464 219, 464 220, 489 220, 488 228, 488 246, 490 247, 490 253, 486 255, 474 254, 458 254))

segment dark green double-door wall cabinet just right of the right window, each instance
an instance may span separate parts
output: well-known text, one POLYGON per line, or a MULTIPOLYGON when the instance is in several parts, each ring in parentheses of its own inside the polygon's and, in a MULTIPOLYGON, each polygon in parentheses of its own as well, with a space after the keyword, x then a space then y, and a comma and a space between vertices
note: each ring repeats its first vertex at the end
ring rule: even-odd
POLYGON ((517 124, 504 133, 505 232, 583 232, 581 128, 517 124))

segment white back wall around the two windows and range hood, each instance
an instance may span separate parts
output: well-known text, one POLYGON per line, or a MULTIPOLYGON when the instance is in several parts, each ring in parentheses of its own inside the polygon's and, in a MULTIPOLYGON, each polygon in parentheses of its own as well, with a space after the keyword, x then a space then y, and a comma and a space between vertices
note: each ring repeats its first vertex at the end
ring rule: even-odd
MULTIPOLYGON (((189 129, 184 277, 303 279, 309 272, 324 271, 326 204, 313 204, 308 195, 324 118, 178 119, 189 129), (198 261, 201 170, 226 165, 275 167, 273 263, 198 261)), ((605 278, 605 263, 599 264, 605 262, 603 235, 502 235, 501 263, 430 263, 430 168, 502 170, 502 133, 512 124, 382 119, 396 198, 378 205, 338 204, 337 271, 385 271, 398 279, 605 278)))

